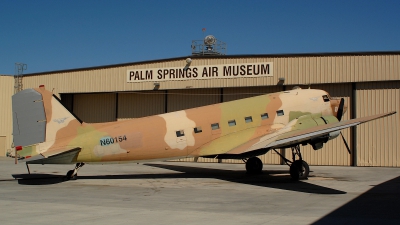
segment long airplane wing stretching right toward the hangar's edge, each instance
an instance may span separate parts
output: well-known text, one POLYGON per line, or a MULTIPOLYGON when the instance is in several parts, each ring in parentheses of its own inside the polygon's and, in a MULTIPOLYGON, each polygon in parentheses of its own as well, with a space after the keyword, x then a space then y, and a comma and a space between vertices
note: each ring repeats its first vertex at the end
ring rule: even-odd
MULTIPOLYGON (((395 114, 396 112, 384 113, 374 116, 367 116, 362 118, 356 118, 346 121, 341 121, 337 123, 325 124, 321 126, 316 126, 303 130, 295 130, 288 131, 277 134, 268 134, 258 139, 258 141, 251 140, 251 146, 248 146, 248 143, 245 145, 239 146, 235 149, 232 149, 229 152, 226 152, 226 155, 242 155, 252 151, 260 150, 260 149, 274 149, 274 148, 283 148, 288 146, 293 146, 296 144, 304 143, 319 137, 326 137, 331 132, 340 131, 345 128, 357 126, 359 124, 379 119, 382 117, 390 116, 395 114), (243 148, 246 146, 246 148, 243 148)), ((224 154, 222 154, 224 155, 224 154)), ((222 156, 220 155, 220 156, 222 156)), ((222 156, 223 157, 223 156, 222 156)), ((221 157, 221 158, 222 158, 221 157)))

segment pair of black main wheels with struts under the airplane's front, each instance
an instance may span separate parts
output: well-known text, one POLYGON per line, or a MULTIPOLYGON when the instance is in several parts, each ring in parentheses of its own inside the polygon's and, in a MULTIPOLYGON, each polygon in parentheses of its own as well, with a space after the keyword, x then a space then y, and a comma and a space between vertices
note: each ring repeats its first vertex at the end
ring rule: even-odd
MULTIPOLYGON (((301 156, 300 152, 300 145, 296 145, 294 147, 291 147, 292 149, 292 160, 290 161, 289 159, 285 158, 282 154, 280 154, 278 151, 273 149, 286 163, 286 165, 289 166, 289 173, 290 176, 292 177, 293 180, 306 180, 308 177, 308 174, 310 173, 310 167, 308 166, 306 161, 303 161, 303 158, 301 156), (296 156, 298 159, 296 159, 296 156)), ((243 159, 243 161, 246 163, 246 171, 248 174, 260 174, 262 173, 262 161, 257 158, 257 157, 251 157, 247 160, 243 159)))

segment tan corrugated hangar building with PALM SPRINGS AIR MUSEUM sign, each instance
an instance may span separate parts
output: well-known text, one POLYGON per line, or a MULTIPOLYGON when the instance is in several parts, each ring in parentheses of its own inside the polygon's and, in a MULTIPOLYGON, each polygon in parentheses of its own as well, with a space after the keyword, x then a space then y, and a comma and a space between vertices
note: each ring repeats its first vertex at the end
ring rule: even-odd
MULTIPOLYGON (((11 96, 45 85, 89 123, 126 120, 301 88, 343 97, 344 119, 397 111, 383 119, 343 130, 322 150, 303 147, 310 165, 400 166, 400 52, 224 55, 186 57, 117 65, 0 76, 0 155, 12 148, 11 96)), ((281 150, 285 153, 284 150, 281 150)), ((285 154, 289 156, 289 151, 285 154)), ((272 151, 264 163, 280 164, 272 151)), ((193 161, 193 158, 181 159, 193 161)), ((216 162, 215 159, 195 159, 216 162)), ((222 162, 241 162, 222 160, 222 162)))

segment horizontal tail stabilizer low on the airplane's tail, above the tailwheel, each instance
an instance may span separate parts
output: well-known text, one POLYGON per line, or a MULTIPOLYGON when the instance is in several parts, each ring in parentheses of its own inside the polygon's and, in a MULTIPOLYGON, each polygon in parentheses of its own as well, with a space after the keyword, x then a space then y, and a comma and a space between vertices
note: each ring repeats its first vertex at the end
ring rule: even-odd
POLYGON ((59 149, 44 152, 39 155, 21 160, 27 164, 71 164, 76 160, 81 148, 59 149))

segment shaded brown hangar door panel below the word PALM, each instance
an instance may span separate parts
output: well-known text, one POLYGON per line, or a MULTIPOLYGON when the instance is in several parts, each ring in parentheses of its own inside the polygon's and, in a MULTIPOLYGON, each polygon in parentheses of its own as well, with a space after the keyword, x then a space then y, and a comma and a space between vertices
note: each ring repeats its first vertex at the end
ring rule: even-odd
POLYGON ((118 120, 165 112, 165 91, 118 93, 118 120))

